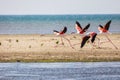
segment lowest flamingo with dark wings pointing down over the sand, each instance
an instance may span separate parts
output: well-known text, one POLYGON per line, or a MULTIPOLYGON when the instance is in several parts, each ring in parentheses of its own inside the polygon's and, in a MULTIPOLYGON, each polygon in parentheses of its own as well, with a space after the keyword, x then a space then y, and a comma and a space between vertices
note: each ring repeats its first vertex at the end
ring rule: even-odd
POLYGON ((89 32, 87 35, 82 37, 81 48, 86 44, 86 42, 91 38, 91 43, 94 43, 96 39, 97 33, 96 32, 89 32))

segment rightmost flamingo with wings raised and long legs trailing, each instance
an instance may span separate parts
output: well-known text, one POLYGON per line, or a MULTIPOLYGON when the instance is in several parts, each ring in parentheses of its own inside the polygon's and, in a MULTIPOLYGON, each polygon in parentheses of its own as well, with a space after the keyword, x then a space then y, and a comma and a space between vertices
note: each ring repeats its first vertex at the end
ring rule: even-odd
MULTIPOLYGON (((100 33, 104 33, 104 34, 105 34, 105 37, 108 39, 108 42, 110 42, 116 49, 118 49, 117 46, 115 46, 115 44, 114 44, 114 43, 110 40, 110 38, 106 35, 106 33, 109 33, 109 34, 110 34, 110 32, 108 31, 108 30, 109 30, 109 27, 110 27, 110 24, 111 24, 111 20, 108 21, 104 26, 99 25, 98 30, 100 31, 100 33)), ((102 43, 103 43, 103 42, 102 42, 102 43)))

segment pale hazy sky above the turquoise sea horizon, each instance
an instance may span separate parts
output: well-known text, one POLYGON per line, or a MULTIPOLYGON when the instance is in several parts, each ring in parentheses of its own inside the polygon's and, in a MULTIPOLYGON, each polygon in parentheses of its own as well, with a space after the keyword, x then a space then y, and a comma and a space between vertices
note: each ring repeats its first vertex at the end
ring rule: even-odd
POLYGON ((0 0, 0 14, 120 14, 120 0, 0 0))

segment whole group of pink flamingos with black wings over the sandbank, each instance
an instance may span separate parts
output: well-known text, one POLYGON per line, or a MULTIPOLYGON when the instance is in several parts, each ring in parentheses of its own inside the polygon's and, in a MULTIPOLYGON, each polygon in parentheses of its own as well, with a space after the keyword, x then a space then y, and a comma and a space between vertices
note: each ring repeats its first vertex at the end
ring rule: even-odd
MULTIPOLYGON (((108 31, 109 27, 110 27, 110 24, 111 24, 111 20, 108 21, 104 26, 99 25, 98 30, 99 30, 100 34, 104 34, 105 35, 105 37, 108 39, 108 42, 110 42, 115 47, 115 49, 118 49, 117 46, 106 35, 106 34, 110 34, 110 32, 108 31)), ((93 44, 93 46, 95 44, 94 42, 95 42, 96 39, 98 39, 98 41, 100 41, 100 39, 98 37, 96 37, 97 33, 94 32, 94 31, 88 32, 88 33, 85 34, 85 32, 89 29, 89 27, 90 27, 90 24, 86 25, 83 28, 83 27, 81 27, 81 25, 80 25, 80 23, 78 21, 76 21, 76 23, 75 23, 75 29, 76 29, 77 33, 80 34, 80 35, 83 35, 80 48, 83 48, 88 40, 90 41, 91 44, 93 44)), ((53 32, 54 32, 55 35, 61 36, 62 43, 63 43, 62 38, 64 38, 64 39, 66 39, 69 42, 71 48, 74 49, 74 47, 72 46, 70 40, 67 39, 64 36, 64 34, 67 32, 67 27, 64 27, 63 30, 61 30, 61 31, 53 30, 53 32)), ((99 47, 99 44, 100 44, 100 42, 98 43, 98 47, 99 47)))

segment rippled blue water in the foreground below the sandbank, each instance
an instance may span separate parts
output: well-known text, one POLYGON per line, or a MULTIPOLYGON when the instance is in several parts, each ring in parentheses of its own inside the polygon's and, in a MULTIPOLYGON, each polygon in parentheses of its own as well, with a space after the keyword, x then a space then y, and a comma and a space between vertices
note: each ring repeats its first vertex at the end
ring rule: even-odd
POLYGON ((0 80, 120 80, 120 62, 0 63, 0 80))

